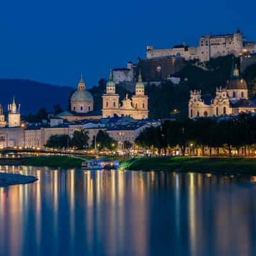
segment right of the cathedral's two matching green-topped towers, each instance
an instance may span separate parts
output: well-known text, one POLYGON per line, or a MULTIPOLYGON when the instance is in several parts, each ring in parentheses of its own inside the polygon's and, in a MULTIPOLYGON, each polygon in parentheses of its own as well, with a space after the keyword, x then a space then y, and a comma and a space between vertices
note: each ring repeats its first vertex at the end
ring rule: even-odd
POLYGON ((132 96, 132 106, 137 111, 136 119, 148 118, 148 97, 145 95, 145 86, 142 83, 141 72, 135 86, 135 95, 132 96))

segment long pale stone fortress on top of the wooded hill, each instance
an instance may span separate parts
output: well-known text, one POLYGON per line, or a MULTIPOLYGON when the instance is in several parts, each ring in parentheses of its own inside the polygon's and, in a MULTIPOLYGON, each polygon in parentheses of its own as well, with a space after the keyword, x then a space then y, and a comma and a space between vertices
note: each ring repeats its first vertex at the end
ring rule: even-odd
POLYGON ((147 59, 182 56, 185 60, 204 62, 228 54, 238 57, 244 52, 256 53, 256 42, 246 42, 241 31, 237 29, 234 34, 202 36, 197 47, 190 47, 185 42, 170 49, 154 49, 153 46, 147 46, 147 59))

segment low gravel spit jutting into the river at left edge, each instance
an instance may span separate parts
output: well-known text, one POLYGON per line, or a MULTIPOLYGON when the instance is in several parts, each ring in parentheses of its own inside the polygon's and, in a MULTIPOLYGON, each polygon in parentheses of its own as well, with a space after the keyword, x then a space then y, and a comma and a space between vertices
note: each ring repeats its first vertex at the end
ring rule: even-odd
POLYGON ((0 173, 0 187, 27 184, 38 180, 36 177, 15 173, 0 173))

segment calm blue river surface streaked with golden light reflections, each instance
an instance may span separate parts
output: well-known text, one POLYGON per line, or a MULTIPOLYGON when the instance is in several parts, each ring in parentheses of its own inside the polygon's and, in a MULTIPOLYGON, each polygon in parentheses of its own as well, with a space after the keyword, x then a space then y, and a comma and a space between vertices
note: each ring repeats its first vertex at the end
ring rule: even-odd
POLYGON ((53 170, 0 188, 0 255, 256 255, 256 184, 196 173, 53 170))

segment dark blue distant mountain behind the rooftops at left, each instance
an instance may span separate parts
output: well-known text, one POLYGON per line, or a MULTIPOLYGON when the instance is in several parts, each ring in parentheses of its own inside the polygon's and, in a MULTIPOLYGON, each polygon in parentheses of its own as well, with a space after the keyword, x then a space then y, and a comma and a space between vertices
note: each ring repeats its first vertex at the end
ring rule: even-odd
POLYGON ((42 107, 52 112, 56 104, 60 104, 63 109, 68 108, 68 99, 73 90, 76 88, 26 79, 0 79, 0 103, 4 111, 7 111, 7 104, 12 103, 15 95, 17 103, 21 105, 22 115, 36 113, 42 107))

